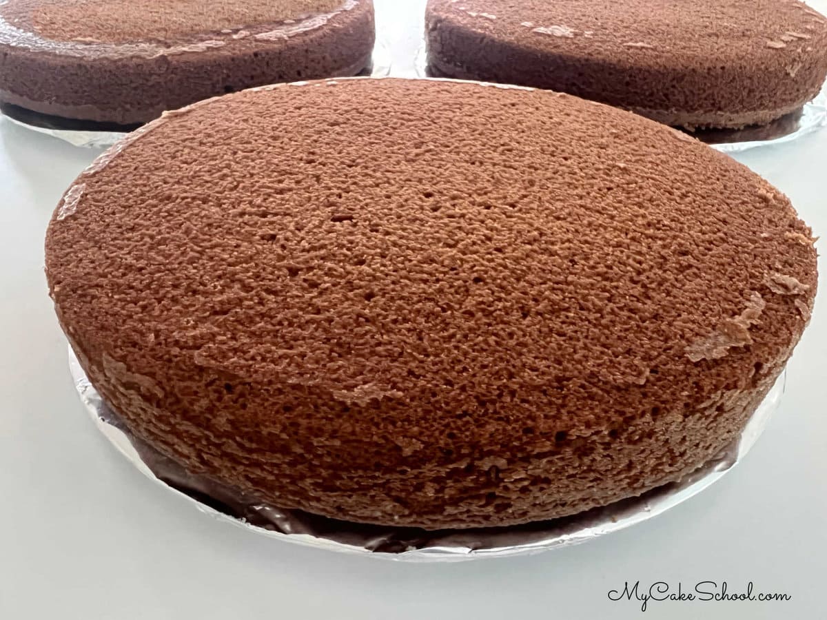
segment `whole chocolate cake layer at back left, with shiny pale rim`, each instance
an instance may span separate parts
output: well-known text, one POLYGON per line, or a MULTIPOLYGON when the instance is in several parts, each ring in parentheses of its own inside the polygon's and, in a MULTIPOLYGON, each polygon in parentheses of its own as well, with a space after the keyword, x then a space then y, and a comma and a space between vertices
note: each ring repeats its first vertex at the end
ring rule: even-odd
POLYGON ((121 125, 261 84, 370 64, 372 0, 9 0, 0 103, 121 125))

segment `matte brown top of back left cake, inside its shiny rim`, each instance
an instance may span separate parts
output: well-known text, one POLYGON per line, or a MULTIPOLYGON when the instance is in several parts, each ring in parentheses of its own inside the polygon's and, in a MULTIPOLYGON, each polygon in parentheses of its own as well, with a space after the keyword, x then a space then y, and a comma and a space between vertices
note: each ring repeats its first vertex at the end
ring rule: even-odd
POLYGON ((170 40, 335 11, 345 0, 9 0, 0 15, 54 41, 170 40))

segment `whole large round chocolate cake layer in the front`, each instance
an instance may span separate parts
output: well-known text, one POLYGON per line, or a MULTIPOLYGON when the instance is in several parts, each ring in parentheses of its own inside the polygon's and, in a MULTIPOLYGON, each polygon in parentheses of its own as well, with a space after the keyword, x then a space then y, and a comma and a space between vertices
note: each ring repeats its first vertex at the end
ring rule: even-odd
POLYGON ((816 289, 788 200, 547 91, 268 87, 80 176, 46 270, 89 379, 188 470, 428 528, 560 517, 738 436, 816 289))

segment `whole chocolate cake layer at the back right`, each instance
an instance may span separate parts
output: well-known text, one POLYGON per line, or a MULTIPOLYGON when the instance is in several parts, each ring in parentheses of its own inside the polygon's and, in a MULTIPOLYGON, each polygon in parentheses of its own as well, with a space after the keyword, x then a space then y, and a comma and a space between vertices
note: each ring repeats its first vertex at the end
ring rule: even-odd
POLYGON ((791 0, 429 0, 426 21, 439 74, 691 129, 771 122, 827 76, 827 17, 791 0))

